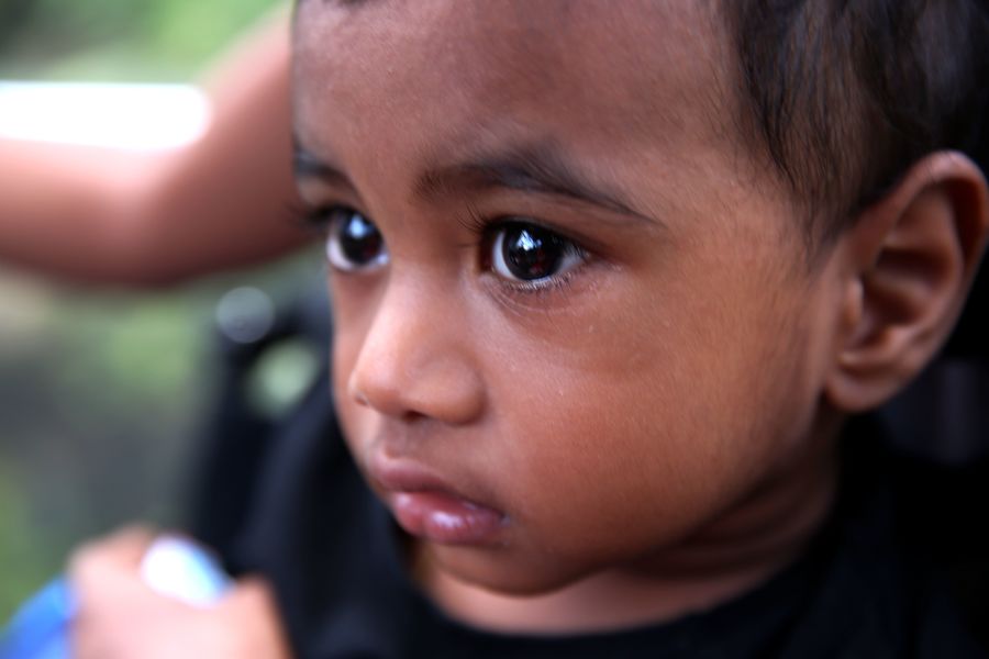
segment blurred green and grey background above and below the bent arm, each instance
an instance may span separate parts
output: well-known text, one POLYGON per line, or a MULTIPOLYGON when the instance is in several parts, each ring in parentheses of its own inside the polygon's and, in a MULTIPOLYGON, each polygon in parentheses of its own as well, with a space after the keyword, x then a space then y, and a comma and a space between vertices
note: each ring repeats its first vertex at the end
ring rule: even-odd
MULTIPOLYGON (((195 80, 276 5, 0 0, 0 79, 195 80)), ((0 621, 81 539, 178 518, 214 384, 216 301, 242 284, 284 300, 316 260, 154 294, 55 286, 0 263, 0 621)))

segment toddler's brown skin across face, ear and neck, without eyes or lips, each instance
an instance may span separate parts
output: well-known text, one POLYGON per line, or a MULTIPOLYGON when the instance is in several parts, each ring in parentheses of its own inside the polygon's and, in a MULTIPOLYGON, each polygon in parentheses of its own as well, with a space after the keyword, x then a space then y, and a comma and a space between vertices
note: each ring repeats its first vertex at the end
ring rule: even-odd
POLYGON ((985 244, 985 179, 934 154, 809 267, 799 204, 730 138, 716 23, 656 4, 300 10, 297 132, 346 179, 300 188, 386 242, 331 278, 336 404, 366 471, 403 460, 505 515, 497 543, 412 543, 423 589, 478 627, 655 623, 781 569, 826 514, 842 418, 930 360, 985 244), (533 143, 635 216, 463 177, 420 193, 533 143), (470 228, 507 215, 587 257, 507 279, 470 228))

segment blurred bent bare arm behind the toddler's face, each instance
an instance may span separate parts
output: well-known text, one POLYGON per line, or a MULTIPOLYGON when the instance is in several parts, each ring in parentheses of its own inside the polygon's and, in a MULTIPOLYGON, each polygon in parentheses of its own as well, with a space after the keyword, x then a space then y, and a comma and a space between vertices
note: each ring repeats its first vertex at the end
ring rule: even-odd
POLYGON ((211 127, 176 152, 0 142, 0 261, 152 286, 300 244, 288 36, 282 15, 237 48, 213 76, 211 127))

